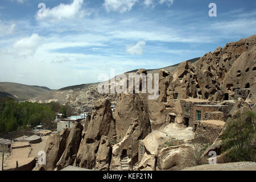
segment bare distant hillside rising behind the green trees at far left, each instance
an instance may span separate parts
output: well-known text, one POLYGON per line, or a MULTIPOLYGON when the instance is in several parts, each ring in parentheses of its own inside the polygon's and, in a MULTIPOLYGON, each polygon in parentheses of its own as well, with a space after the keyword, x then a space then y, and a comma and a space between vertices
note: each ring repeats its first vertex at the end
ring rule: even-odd
POLYGON ((17 100, 28 100, 49 92, 52 92, 52 90, 45 86, 0 82, 0 98, 13 97, 17 100))

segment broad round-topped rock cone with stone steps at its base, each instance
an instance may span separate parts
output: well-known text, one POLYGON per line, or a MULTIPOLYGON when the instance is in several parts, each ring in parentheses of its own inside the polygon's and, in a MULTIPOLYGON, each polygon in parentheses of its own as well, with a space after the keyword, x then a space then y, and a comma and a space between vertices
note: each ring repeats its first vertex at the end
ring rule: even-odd
POLYGON ((122 94, 115 109, 117 141, 112 150, 110 170, 122 170, 122 160, 127 158, 126 167, 138 162, 138 143, 151 132, 147 107, 140 94, 122 94))

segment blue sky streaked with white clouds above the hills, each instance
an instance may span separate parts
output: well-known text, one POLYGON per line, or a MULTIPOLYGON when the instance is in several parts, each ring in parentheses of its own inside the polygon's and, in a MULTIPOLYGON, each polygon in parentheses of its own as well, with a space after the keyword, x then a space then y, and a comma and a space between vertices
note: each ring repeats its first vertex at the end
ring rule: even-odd
POLYGON ((254 0, 1 0, 0 81, 59 89, 166 67, 254 35, 255 10, 254 0))

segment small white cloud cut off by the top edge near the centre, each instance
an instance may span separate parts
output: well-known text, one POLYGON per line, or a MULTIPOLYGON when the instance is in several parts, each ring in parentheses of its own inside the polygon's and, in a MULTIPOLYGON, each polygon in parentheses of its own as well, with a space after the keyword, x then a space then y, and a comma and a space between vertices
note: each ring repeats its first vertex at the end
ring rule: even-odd
POLYGON ((104 0, 103 6, 108 12, 119 11, 120 13, 125 13, 130 11, 137 2, 138 0, 104 0))

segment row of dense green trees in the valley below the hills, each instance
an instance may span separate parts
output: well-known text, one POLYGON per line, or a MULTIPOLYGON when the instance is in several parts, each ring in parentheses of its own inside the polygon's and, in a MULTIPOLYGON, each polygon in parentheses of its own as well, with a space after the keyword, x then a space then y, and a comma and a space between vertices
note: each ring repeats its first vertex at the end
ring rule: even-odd
POLYGON ((13 99, 0 101, 0 133, 16 131, 20 128, 35 127, 40 123, 50 123, 55 119, 55 113, 67 115, 67 106, 57 102, 39 104, 20 102, 13 99))

